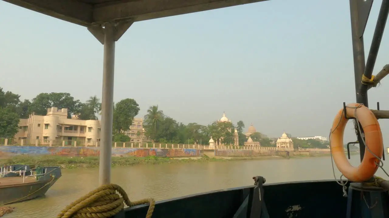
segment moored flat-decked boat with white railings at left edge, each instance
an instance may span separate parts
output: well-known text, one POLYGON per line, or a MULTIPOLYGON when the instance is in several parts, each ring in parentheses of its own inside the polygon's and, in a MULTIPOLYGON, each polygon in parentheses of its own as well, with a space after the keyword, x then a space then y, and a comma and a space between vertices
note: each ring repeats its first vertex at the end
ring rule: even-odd
POLYGON ((0 168, 0 205, 27 201, 46 194, 61 177, 61 168, 30 168, 11 165, 0 168))

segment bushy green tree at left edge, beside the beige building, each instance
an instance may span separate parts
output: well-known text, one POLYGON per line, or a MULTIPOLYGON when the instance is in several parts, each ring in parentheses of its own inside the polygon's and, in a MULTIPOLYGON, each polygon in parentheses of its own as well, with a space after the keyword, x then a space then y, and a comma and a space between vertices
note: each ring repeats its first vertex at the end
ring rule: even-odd
POLYGON ((19 116, 8 107, 0 107, 0 138, 12 138, 18 133, 19 116))

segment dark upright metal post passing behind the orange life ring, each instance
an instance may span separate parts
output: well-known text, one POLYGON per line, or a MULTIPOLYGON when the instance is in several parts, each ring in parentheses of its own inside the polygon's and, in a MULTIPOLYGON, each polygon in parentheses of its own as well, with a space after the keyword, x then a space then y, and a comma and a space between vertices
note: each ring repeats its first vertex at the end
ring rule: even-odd
MULTIPOLYGON (((362 83, 362 75, 365 69, 365 59, 364 59, 364 45, 363 45, 363 36, 359 37, 359 19, 358 19, 358 10, 359 4, 356 0, 350 0, 350 18, 351 18, 351 35, 352 35, 352 50, 354 54, 354 78, 355 78, 355 93, 357 103, 364 104, 368 107, 368 97, 366 93, 360 93, 359 88, 362 83)), ((363 130, 362 130, 363 131, 363 130)), ((361 161, 364 156, 365 146, 362 142, 361 133, 357 132, 357 138, 359 142, 359 150, 361 161)))

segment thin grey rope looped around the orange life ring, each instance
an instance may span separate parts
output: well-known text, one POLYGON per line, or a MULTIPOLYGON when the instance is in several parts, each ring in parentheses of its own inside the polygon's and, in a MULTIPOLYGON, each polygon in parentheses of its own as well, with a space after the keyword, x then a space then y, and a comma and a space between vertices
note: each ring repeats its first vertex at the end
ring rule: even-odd
MULTIPOLYGON (((358 129, 359 132, 362 132, 362 131, 361 131, 361 124, 359 123, 358 116, 357 116, 357 109, 360 108, 360 107, 362 107, 362 106, 364 106, 364 104, 358 104, 357 106, 354 106, 354 107, 346 106, 347 108, 354 109, 354 118, 355 118, 355 120, 354 120, 354 122, 355 122, 355 123, 354 123, 354 126, 357 127, 357 129, 358 129)), ((334 129, 331 128, 331 130, 330 130, 330 132, 329 132, 329 137, 328 137, 328 139, 329 139, 329 149, 330 149, 330 151, 331 151, 331 164, 332 164, 333 175, 334 175, 334 178, 335 178, 336 183, 338 183, 339 185, 341 185, 342 188, 343 188, 343 196, 344 196, 344 197, 347 197, 347 191, 346 191, 347 186, 346 186, 346 184, 347 184, 348 181, 347 181, 347 180, 346 180, 346 181, 343 181, 343 180, 342 180, 343 174, 340 176, 340 180, 339 180, 339 181, 336 179, 335 168, 334 168, 334 161, 333 161, 333 155, 332 155, 332 147, 331 147, 331 134, 332 134, 332 133, 338 128, 338 126, 340 125, 340 122, 342 121, 342 118, 343 118, 343 116, 345 115, 344 113, 345 113, 345 110, 343 109, 343 110, 342 110, 342 114, 341 114, 341 116, 340 116, 340 118, 339 118, 339 122, 338 122, 338 124, 335 126, 334 129)), ((375 162, 375 164, 376 164, 379 168, 381 168, 382 171, 384 171, 384 173, 389 177, 389 174, 388 174, 388 173, 384 170, 384 168, 383 168, 383 167, 384 167, 384 162, 382 161, 382 159, 381 159, 380 157, 378 157, 377 155, 375 155, 373 152, 371 152, 371 150, 369 149, 369 147, 366 145, 366 142, 365 142, 364 138, 363 138, 363 137, 361 137, 361 138, 362 138, 363 144, 364 144, 365 147, 366 147, 366 150, 367 150, 368 152, 370 152, 375 158, 378 159, 378 163, 375 162)))

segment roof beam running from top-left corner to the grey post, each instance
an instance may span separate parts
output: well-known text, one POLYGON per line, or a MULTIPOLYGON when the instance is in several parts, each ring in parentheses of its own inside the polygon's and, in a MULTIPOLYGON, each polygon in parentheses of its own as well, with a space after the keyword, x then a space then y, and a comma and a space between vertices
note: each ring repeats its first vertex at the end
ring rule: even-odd
POLYGON ((3 1, 81 26, 88 26, 92 22, 93 6, 77 0, 3 1))

